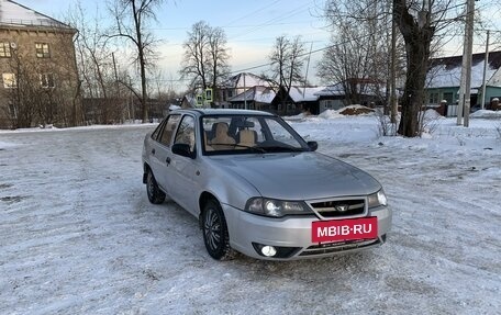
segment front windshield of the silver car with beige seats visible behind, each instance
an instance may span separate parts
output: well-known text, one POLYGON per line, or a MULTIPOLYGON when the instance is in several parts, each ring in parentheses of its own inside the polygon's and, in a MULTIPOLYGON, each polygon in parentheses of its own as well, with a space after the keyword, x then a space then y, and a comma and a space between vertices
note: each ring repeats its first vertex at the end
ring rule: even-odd
POLYGON ((281 119, 265 115, 210 115, 201 120, 205 155, 310 150, 281 119))

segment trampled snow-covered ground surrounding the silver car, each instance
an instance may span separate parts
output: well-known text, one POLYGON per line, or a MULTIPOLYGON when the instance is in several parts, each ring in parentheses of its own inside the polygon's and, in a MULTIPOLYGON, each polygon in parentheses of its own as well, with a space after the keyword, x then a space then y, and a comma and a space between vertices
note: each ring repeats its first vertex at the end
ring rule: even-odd
MULTIPOLYGON (((380 248, 329 259, 211 259, 197 221, 152 205, 154 125, 0 132, 2 314, 500 314, 500 119, 380 137, 374 116, 291 120, 378 178, 380 248)), ((293 171, 293 170, 291 170, 293 171)))

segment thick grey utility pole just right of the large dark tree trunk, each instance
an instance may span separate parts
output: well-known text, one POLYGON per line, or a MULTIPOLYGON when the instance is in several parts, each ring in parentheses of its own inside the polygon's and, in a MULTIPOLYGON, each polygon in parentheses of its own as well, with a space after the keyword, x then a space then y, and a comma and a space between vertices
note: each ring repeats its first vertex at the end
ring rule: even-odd
POLYGON ((459 103, 457 109, 457 125, 463 124, 463 113, 465 113, 465 127, 468 127, 469 125, 471 94, 471 55, 474 53, 474 13, 475 0, 467 0, 465 43, 463 45, 461 83, 459 87, 459 103))

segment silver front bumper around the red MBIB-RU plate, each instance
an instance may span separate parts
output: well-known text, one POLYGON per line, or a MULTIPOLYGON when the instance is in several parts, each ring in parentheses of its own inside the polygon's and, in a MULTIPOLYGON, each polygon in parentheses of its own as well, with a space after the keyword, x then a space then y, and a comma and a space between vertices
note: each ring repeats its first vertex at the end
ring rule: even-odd
POLYGON ((370 216, 378 218, 377 238, 316 244, 311 240, 312 222, 320 221, 315 215, 270 218, 246 213, 230 205, 223 205, 223 211, 227 221, 232 248, 249 257, 267 260, 329 257, 339 252, 377 247, 386 241, 392 220, 391 209, 379 206, 369 213, 370 216), (278 255, 276 257, 263 256, 259 254, 259 248, 263 246, 277 248, 278 255))

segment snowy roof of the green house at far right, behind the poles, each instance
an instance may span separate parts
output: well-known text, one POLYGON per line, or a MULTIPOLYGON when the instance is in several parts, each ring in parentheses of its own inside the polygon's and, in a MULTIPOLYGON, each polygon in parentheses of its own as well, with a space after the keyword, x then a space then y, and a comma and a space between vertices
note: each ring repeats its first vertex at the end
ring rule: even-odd
MULTIPOLYGON (((471 55, 471 88, 479 88, 483 79, 483 65, 486 54, 471 55)), ((427 88, 459 87, 461 78, 463 56, 443 57, 432 59, 426 76, 427 88)), ((501 52, 490 52, 486 72, 488 85, 500 85, 499 80, 491 80, 501 67, 501 52), (490 82, 489 82, 490 81, 490 82)))

